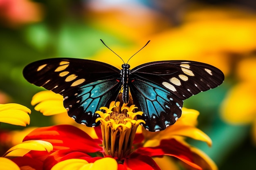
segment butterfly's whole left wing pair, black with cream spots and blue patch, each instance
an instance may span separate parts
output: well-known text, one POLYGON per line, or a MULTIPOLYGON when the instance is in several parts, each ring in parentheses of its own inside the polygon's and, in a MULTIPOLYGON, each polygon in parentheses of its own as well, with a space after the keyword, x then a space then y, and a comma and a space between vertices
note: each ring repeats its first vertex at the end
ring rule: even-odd
POLYGON ((115 100, 121 88, 118 68, 93 60, 52 58, 33 62, 23 70, 28 82, 64 97, 70 117, 87 126, 97 126, 101 106, 115 100))

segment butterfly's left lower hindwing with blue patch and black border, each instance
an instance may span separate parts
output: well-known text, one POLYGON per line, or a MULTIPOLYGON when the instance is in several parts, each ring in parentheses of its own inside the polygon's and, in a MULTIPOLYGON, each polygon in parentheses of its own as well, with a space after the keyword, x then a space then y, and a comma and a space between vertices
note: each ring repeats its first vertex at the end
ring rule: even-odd
POLYGON ((108 106, 109 102, 115 101, 119 94, 119 86, 115 79, 85 84, 64 95, 64 107, 77 123, 89 127, 98 126, 99 122, 95 123, 95 120, 99 115, 95 112, 102 106, 108 106))

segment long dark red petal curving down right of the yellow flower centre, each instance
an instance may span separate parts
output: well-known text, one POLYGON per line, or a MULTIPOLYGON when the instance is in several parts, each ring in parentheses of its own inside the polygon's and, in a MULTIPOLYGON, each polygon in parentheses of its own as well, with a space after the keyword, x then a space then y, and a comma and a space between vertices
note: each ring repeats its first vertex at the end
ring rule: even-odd
POLYGON ((193 168, 202 170, 200 166, 194 163, 191 150, 175 139, 162 140, 159 146, 139 148, 135 152, 148 155, 149 157, 161 157, 163 155, 173 156, 189 164, 193 168))

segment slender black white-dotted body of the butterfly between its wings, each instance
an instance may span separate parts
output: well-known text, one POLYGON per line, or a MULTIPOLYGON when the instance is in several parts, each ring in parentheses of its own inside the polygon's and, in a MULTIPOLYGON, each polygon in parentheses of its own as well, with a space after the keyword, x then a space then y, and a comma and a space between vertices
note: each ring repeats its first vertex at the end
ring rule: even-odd
POLYGON ((122 64, 121 74, 121 84, 123 88, 122 99, 124 103, 129 102, 129 82, 130 82, 130 65, 122 64))

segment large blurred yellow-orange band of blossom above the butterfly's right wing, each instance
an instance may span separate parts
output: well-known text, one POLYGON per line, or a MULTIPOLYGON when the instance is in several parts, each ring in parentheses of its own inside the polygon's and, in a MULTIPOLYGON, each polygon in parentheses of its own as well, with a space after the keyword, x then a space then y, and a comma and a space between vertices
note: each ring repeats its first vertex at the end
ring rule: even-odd
MULTIPOLYGON (((161 28, 161 31, 134 38, 134 45, 130 48, 110 48, 127 62, 139 47, 151 40, 129 61, 131 68, 160 60, 194 60, 216 66, 226 76, 232 71, 232 55, 243 57, 243 54, 256 49, 256 15, 235 8, 198 8, 186 13, 180 26, 161 28)), ((147 30, 146 27, 144 29, 147 30)), ((124 30, 123 34, 126 35, 126 32, 124 30)), ((128 35, 131 36, 130 33, 128 35)), ((105 43, 108 44, 106 40, 105 43)), ((122 64, 108 49, 99 51, 93 59, 118 68, 122 64)))

